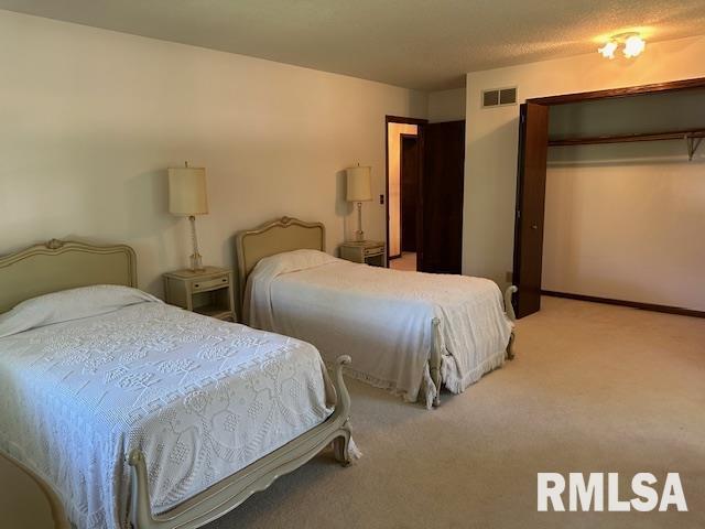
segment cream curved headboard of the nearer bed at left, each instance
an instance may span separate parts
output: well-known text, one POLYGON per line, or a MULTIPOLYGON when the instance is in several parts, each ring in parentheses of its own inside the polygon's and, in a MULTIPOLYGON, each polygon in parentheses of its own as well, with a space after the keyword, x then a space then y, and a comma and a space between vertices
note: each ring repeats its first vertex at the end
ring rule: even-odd
POLYGON ((90 284, 137 287, 134 250, 52 239, 0 257, 0 313, 30 298, 90 284))

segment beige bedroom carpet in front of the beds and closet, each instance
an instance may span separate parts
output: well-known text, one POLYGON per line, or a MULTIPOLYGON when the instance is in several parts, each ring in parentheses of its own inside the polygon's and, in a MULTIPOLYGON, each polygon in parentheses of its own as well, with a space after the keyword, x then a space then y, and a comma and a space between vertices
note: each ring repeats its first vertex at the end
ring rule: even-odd
MULTIPOLYGON (((705 320, 544 299, 517 359, 425 411, 350 381, 365 457, 324 453, 215 528, 705 527, 705 320), (688 512, 536 512, 536 472, 680 472, 688 512)), ((631 495, 629 495, 631 497, 631 495)))

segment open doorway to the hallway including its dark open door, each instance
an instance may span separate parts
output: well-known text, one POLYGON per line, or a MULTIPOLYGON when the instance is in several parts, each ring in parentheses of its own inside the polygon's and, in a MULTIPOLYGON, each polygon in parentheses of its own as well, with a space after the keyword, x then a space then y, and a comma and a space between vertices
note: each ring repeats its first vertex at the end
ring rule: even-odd
POLYGON ((460 273, 465 121, 386 125, 389 267, 460 273))

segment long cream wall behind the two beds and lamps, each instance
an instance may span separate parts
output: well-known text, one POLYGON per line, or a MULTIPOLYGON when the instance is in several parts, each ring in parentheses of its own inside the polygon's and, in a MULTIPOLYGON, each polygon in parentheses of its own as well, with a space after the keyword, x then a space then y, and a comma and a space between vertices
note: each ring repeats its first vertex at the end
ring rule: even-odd
MULTIPOLYGON (((166 168, 205 166, 208 264, 232 236, 281 215, 355 230, 344 170, 384 193, 384 116, 424 117, 421 93, 284 64, 0 11, 0 252, 52 237, 127 242, 140 285, 187 263, 166 212, 166 168), (346 227, 346 218, 349 219, 346 227)), ((383 240, 384 206, 365 205, 383 240)))

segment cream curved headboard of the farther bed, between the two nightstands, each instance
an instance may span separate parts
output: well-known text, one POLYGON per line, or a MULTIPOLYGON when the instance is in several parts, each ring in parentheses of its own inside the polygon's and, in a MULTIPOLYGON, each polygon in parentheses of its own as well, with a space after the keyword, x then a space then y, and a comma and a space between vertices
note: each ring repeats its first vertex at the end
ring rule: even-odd
POLYGON ((257 228, 238 231, 235 246, 238 260, 238 299, 241 303, 247 278, 260 259, 301 249, 325 251, 326 228, 322 223, 281 217, 257 228))

